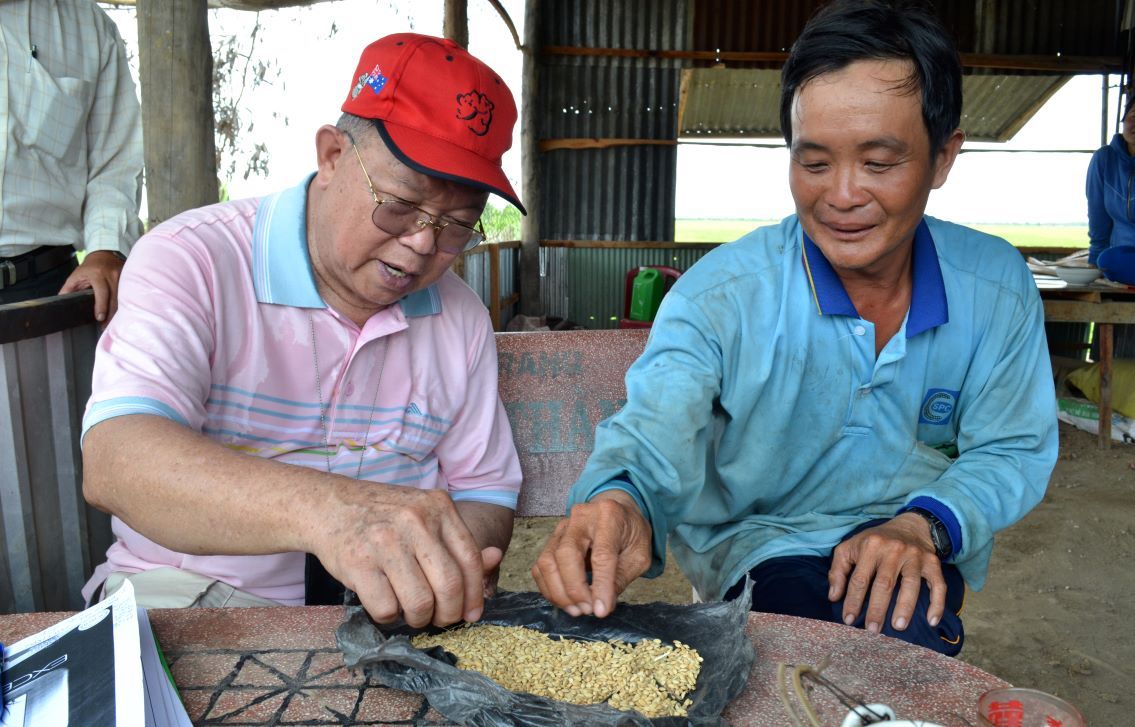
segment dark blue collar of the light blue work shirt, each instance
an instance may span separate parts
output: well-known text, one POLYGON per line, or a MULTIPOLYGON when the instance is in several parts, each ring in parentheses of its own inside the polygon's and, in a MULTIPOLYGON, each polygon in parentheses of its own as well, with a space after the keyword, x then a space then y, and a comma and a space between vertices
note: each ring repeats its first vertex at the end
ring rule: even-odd
MULTIPOLYGON (((801 263, 808 277, 808 285, 812 287, 816 310, 821 315, 859 318, 859 312, 848 297, 835 269, 807 233, 801 230, 801 236, 804 237, 801 263)), ((938 250, 934 247, 934 238, 925 219, 918 222, 915 229, 911 268, 914 280, 910 290, 910 312, 907 314, 907 338, 950 321, 942 267, 938 261, 938 250)))

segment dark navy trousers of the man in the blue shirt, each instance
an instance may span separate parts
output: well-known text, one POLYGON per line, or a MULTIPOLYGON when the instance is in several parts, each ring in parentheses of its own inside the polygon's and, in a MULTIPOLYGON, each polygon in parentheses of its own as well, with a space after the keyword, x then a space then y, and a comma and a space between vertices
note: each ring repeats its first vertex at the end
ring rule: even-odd
MULTIPOLYGON (((859 531, 874 527, 885 521, 873 521, 856 527, 843 540, 851 538, 859 531)), ((814 618, 816 620, 843 623, 843 601, 832 602, 827 600, 827 572, 832 567, 831 556, 785 556, 783 558, 771 558, 758 564, 749 572, 753 578, 753 606, 751 610, 763 614, 784 614, 787 616, 800 616, 814 618)), ((903 631, 896 631, 891 626, 891 618, 894 611, 894 602, 898 599, 899 590, 894 589, 891 595, 891 605, 886 609, 886 618, 882 624, 882 633, 894 636, 902 641, 926 646, 944 653, 948 657, 957 656, 961 651, 961 643, 965 632, 961 627, 962 601, 966 594, 966 584, 958 573, 958 568, 951 564, 942 564, 942 576, 945 578, 945 612, 938 626, 931 626, 926 620, 926 610, 930 608, 930 587, 923 581, 918 592, 918 602, 915 612, 910 617, 910 623, 903 631)), ((725 600, 735 599, 745 587, 745 580, 733 584, 725 593, 725 600)), ((863 628, 867 605, 864 602, 859 611, 859 618, 852 626, 863 628)))

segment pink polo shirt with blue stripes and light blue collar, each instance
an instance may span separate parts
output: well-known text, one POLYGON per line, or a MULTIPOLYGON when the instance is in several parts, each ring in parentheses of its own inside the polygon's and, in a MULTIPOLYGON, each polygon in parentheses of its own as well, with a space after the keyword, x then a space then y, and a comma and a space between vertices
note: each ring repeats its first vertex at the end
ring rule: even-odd
MULTIPOLYGON (((152 414, 255 457, 316 470, 329 460, 351 477, 361 457, 360 479, 515 509, 520 463, 485 305, 449 271, 361 329, 328 307, 308 256, 310 179, 185 212, 138 240, 99 340, 84 436, 114 416, 152 414)), ((194 556, 117 517, 112 529, 86 598, 110 572, 173 566, 303 602, 303 553, 194 556)))

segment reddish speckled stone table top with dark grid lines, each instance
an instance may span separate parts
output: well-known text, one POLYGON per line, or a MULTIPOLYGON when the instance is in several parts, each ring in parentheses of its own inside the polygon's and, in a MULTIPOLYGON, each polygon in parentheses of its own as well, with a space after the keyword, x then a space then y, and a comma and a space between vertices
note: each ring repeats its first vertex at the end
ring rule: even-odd
MULTIPOLYGON (((69 614, 0 616, 11 644, 69 614)), ((390 690, 343 666, 335 646, 340 607, 152 609, 150 622, 195 725, 447 725, 421 696, 390 690)), ((737 727, 785 725, 776 687, 779 662, 818 666, 823 676, 899 718, 941 725, 976 722, 983 692, 1006 682, 976 667, 888 636, 792 616, 750 614, 757 650, 745 691, 725 709, 737 727)), ((825 725, 847 709, 834 695, 812 695, 825 725)))

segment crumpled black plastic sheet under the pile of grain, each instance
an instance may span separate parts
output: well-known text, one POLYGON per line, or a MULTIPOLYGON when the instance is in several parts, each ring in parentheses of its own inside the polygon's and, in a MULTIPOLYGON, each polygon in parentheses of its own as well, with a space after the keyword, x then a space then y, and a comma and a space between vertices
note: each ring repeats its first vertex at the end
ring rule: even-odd
MULTIPOLYGON (((745 634, 751 584, 734 601, 711 603, 620 603, 607 618, 573 618, 538 593, 502 593, 485 601, 480 624, 526 626, 546 634, 587 640, 681 641, 701 654, 701 673, 688 699, 688 717, 648 719, 607 704, 579 705, 513 692, 476 671, 459 669, 440 646, 421 651, 410 636, 429 631, 405 624, 377 626, 361 606, 348 606, 336 641, 347 667, 363 668, 384 686, 422 694, 446 718, 473 727, 725 725, 722 710, 745 688, 756 658, 745 634)), ((353 594, 348 595, 350 597, 353 594)))

